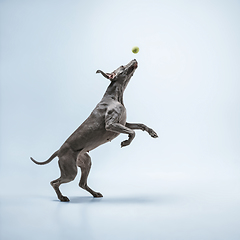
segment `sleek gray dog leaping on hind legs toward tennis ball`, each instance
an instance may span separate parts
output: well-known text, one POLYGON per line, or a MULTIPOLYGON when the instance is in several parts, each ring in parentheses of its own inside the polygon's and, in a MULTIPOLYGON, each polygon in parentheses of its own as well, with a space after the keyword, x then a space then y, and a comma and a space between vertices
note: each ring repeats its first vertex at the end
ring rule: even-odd
POLYGON ((52 181, 51 185, 56 191, 60 201, 69 201, 68 197, 62 195, 59 186, 62 183, 74 180, 77 175, 77 166, 80 167, 82 171, 79 186, 91 193, 93 197, 103 196, 101 193, 93 191, 87 185, 87 178, 91 168, 91 158, 88 155, 89 151, 113 140, 120 133, 128 134, 128 139, 121 143, 121 147, 128 146, 135 137, 134 129, 147 131, 153 138, 158 137, 156 132, 144 124, 126 122, 123 92, 137 67, 138 63, 134 59, 126 66, 121 66, 112 73, 104 73, 98 70, 97 73, 101 73, 105 78, 109 79, 111 83, 102 100, 90 116, 47 161, 37 162, 31 158, 34 163, 39 165, 47 164, 55 157, 59 158, 58 164, 61 170, 61 176, 52 181))

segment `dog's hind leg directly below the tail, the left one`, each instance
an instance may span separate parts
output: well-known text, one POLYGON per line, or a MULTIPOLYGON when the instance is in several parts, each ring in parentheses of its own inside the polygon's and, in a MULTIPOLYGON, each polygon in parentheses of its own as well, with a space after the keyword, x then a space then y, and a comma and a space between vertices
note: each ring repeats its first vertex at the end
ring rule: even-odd
POLYGON ((69 199, 68 197, 62 195, 59 190, 59 186, 62 183, 73 181, 77 175, 76 156, 74 155, 76 154, 74 154, 72 150, 68 150, 64 152, 64 155, 59 156, 58 165, 61 171, 61 176, 60 178, 51 182, 51 185, 61 202, 69 202, 69 199))

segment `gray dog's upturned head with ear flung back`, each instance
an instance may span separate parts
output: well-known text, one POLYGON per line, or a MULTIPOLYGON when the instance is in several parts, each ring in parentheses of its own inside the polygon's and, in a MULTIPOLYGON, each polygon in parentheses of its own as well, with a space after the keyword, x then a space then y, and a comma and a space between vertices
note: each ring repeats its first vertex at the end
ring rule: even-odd
POLYGON ((120 84, 126 85, 134 74, 137 67, 138 62, 136 59, 133 59, 127 65, 120 66, 111 73, 105 73, 101 70, 97 70, 96 73, 101 73, 105 78, 109 79, 112 82, 118 82, 120 84))

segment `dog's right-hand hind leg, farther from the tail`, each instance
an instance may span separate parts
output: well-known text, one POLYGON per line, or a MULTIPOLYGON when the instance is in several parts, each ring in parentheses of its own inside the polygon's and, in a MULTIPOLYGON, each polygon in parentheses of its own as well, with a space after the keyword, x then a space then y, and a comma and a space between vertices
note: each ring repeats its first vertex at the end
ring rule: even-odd
POLYGON ((79 153, 77 157, 77 165, 81 168, 82 171, 79 186, 88 191, 89 193, 91 193, 93 197, 103 197, 101 193, 93 191, 87 185, 87 178, 92 165, 90 156, 87 153, 79 153))

